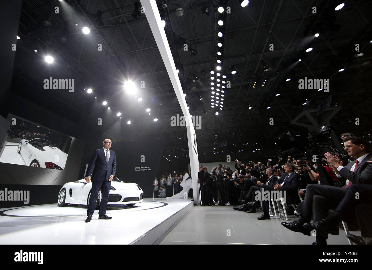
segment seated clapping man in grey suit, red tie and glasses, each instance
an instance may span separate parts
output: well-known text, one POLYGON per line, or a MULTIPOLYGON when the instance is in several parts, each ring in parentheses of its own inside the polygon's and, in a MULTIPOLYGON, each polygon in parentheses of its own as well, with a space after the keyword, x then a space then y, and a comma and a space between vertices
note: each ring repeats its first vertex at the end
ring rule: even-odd
MULTIPOLYGON (((310 230, 304 227, 304 223, 321 221, 328 217, 328 210, 335 209, 345 197, 347 188, 352 184, 372 184, 372 164, 367 160, 371 159, 368 153, 368 143, 362 137, 347 137, 344 140, 344 149, 349 156, 356 157, 356 160, 349 162, 346 167, 338 156, 325 153, 324 160, 331 165, 340 182, 345 183, 342 188, 328 185, 307 185, 304 201, 297 207, 296 212, 301 218, 293 222, 281 222, 281 224, 294 232, 302 232, 310 235, 310 230), (345 182, 346 181, 346 182, 345 182)), ((317 233, 313 244, 327 244, 328 234, 338 235, 337 225, 327 228, 326 231, 317 233)))

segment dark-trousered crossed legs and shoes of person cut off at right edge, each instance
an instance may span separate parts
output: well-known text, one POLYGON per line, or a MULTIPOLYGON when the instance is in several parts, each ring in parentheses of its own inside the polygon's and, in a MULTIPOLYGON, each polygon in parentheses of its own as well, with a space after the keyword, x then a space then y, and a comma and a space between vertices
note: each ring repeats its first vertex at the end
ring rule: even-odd
POLYGON ((326 218, 314 222, 304 223, 307 230, 316 230, 320 234, 337 233, 338 222, 354 222, 360 228, 362 236, 352 234, 346 235, 351 241, 356 244, 372 244, 372 185, 353 184, 346 192, 337 208, 326 218), (356 196, 358 194, 358 196, 356 196))

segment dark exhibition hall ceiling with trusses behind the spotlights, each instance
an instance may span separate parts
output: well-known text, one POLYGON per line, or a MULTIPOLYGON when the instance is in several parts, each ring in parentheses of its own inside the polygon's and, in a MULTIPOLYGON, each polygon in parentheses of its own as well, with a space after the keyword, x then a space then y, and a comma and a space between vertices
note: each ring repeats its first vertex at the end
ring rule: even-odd
MULTIPOLYGON (((202 118, 201 129, 196 130, 199 153, 244 149, 251 156, 258 146, 260 151, 253 154, 275 152, 273 138, 287 130, 307 134, 291 120, 303 110, 316 109, 330 95, 331 105, 342 107, 331 121, 337 133, 369 130, 371 1, 343 1, 339 11, 334 11, 339 1, 251 0, 247 7, 238 0, 225 1, 231 13, 224 15, 222 63, 231 88, 225 89, 218 116, 211 107, 209 73, 216 59, 214 2, 219 1, 157 1, 174 60, 183 65, 179 77, 190 113, 202 118), (209 15, 203 7, 210 7, 209 15), (179 8, 183 16, 177 16, 179 8), (317 32, 320 36, 314 38, 317 32), (188 51, 176 48, 177 37, 186 39, 188 51), (312 51, 305 52, 309 47, 312 51), (363 56, 356 57, 357 53, 363 56), (338 72, 340 66, 343 72, 338 72), (193 77, 200 79, 193 82, 193 77), (299 90, 298 80, 305 77, 330 79, 330 91, 299 90), (273 126, 269 118, 274 119, 273 126), (360 119, 359 126, 355 118, 360 119), (223 140, 227 147, 214 150, 223 140)), ((102 118, 114 141, 164 138, 167 149, 180 149, 176 156, 186 154, 181 151, 187 148, 185 127, 170 125, 171 117, 182 111, 145 14, 135 19, 134 7, 135 0, 24 0, 12 91, 92 130, 100 129, 97 118, 102 118), (90 27, 89 35, 81 32, 83 26, 90 27), (44 61, 47 54, 54 57, 53 64, 44 61), (74 78, 75 91, 44 90, 43 80, 49 77, 74 78), (136 94, 124 91, 126 80, 135 82, 136 94), (102 105, 103 100, 108 105, 102 105), (151 108, 151 115, 146 108, 151 108)))

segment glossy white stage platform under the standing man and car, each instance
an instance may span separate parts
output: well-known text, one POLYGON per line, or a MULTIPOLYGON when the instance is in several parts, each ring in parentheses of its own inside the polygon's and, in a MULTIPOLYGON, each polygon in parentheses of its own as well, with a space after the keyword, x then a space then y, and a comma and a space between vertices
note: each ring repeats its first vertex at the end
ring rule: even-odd
POLYGON ((109 205, 112 219, 85 223, 87 206, 57 204, 0 209, 1 244, 153 244, 193 207, 191 199, 144 199, 109 205))

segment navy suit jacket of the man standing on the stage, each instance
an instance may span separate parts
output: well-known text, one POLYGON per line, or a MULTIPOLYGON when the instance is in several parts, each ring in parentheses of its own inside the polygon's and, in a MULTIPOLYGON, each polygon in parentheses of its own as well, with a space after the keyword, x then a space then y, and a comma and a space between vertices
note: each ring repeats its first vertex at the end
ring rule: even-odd
POLYGON ((116 153, 112 150, 110 151, 109 163, 106 163, 106 151, 102 149, 94 150, 93 156, 89 161, 87 173, 84 176, 92 177, 93 181, 108 181, 110 175, 115 175, 116 172, 116 153), (94 169, 93 169, 94 166, 94 169), (92 172, 93 171, 93 172, 92 172))

